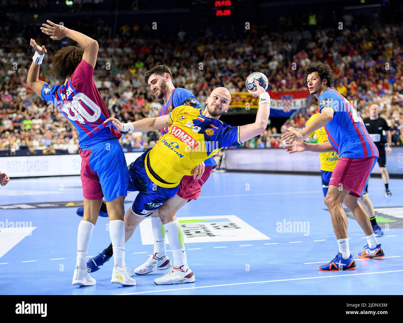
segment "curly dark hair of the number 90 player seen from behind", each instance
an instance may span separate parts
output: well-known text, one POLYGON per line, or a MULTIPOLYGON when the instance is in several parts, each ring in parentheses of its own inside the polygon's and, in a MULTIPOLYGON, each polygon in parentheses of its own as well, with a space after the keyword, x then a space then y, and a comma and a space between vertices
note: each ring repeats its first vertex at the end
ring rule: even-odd
POLYGON ((52 60, 52 74, 64 82, 71 76, 83 59, 84 49, 81 46, 67 46, 58 50, 52 60))

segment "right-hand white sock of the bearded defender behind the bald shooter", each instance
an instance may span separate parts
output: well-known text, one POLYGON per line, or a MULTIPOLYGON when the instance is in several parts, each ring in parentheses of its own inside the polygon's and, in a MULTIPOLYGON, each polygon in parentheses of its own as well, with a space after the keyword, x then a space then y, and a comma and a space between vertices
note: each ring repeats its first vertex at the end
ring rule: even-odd
POLYGON ((167 224, 164 224, 166 235, 168 236, 169 244, 172 248, 174 258, 174 267, 181 268, 187 271, 185 244, 183 243, 183 232, 179 221, 176 219, 167 224))

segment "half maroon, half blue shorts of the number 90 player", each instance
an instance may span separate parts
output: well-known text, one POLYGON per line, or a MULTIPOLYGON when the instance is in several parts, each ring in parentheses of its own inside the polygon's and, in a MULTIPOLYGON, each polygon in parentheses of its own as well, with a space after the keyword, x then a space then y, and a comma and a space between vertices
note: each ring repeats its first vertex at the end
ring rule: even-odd
POLYGON ((83 197, 110 202, 127 195, 129 172, 118 139, 97 143, 80 150, 83 197))

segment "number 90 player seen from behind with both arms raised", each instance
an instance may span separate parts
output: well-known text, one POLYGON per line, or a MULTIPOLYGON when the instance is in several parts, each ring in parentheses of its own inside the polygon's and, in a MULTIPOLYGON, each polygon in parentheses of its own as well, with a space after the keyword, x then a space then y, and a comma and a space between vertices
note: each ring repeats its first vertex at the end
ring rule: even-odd
POLYGON ((129 174, 123 149, 118 139, 120 133, 104 121, 109 118, 104 101, 93 81, 98 56, 96 40, 51 21, 43 24, 42 32, 52 40, 69 37, 79 46, 67 46, 53 57, 54 75, 62 85, 49 85, 39 81, 39 67, 46 54, 45 46, 39 47, 34 39, 35 50, 29 68, 27 84, 42 99, 61 108, 62 114, 76 128, 79 135, 81 156, 81 182, 85 212, 77 233, 77 262, 73 285, 91 286, 96 281, 87 272, 87 251, 98 212, 105 197, 109 210, 109 233, 114 248, 112 284, 133 286, 125 264, 125 224, 123 202, 127 193, 129 174))

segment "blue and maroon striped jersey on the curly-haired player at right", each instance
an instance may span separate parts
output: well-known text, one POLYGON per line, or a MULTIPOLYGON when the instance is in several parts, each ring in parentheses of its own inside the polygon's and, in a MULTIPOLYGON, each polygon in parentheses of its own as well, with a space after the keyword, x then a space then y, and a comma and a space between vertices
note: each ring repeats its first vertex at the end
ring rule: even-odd
POLYGON ((361 117, 349 101, 334 89, 327 88, 319 95, 319 112, 324 107, 334 109, 333 119, 324 127, 329 142, 339 157, 379 157, 361 117))

